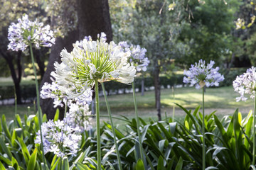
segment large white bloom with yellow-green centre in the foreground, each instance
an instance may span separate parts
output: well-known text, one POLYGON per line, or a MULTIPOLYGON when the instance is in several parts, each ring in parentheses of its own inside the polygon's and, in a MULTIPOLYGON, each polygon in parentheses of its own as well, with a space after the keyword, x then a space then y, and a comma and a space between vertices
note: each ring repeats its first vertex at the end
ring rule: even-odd
POLYGON ((136 69, 127 62, 130 52, 124 52, 114 42, 85 38, 82 45, 77 42, 73 47, 70 53, 65 49, 60 52, 62 62, 55 62, 55 72, 51 74, 70 98, 92 88, 95 81, 114 80, 124 84, 134 81, 136 69))

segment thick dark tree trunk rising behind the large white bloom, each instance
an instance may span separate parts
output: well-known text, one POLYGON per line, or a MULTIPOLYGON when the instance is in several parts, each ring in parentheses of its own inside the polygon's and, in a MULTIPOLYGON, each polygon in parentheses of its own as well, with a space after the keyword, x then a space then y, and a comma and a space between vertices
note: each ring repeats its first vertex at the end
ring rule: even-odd
MULTIPOLYGON (((110 23, 110 11, 107 0, 77 0, 78 30, 68 33, 65 38, 57 38, 50 53, 48 67, 43 76, 41 86, 50 81, 50 72, 55 71, 53 63, 60 62, 60 51, 65 47, 69 52, 73 49, 76 40, 82 40, 85 36, 91 35, 95 40, 97 34, 104 32, 107 34, 107 41, 112 40, 112 29, 110 23)), ((53 119, 55 109, 52 99, 41 99, 41 108, 46 113, 48 119, 53 119)), ((63 113, 61 111, 60 113, 63 113)), ((63 115, 63 114, 60 114, 63 115)))

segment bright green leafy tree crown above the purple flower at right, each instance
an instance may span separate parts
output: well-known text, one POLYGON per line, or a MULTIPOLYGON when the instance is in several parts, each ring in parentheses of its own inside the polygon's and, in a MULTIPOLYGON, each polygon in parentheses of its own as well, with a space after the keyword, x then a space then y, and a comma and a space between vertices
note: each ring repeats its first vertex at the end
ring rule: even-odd
POLYGON ((235 52, 233 36, 234 14, 239 3, 236 0, 186 1, 187 19, 181 31, 180 40, 188 42, 190 53, 179 62, 189 66, 198 60, 214 60, 227 66, 235 52), (231 56, 231 57, 230 57, 231 56))

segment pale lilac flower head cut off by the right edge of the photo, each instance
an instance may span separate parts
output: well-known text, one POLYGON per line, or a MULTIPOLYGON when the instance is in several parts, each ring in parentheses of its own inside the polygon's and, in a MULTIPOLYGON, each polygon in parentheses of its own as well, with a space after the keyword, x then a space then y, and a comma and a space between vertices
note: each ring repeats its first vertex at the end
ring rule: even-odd
POLYGON ((246 101, 247 98, 245 94, 250 94, 250 98, 255 98, 255 91, 256 91, 256 68, 252 67, 247 69, 247 71, 238 76, 233 81, 233 87, 235 92, 240 94, 240 97, 236 98, 236 101, 246 101))

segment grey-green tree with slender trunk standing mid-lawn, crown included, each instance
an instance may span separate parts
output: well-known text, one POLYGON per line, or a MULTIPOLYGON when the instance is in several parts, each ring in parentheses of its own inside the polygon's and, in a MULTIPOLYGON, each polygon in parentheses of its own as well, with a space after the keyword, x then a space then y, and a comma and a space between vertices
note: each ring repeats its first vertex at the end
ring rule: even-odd
POLYGON ((188 45, 178 41, 183 26, 183 1, 112 1, 114 40, 129 41, 145 47, 150 59, 149 72, 154 77, 155 102, 161 120, 160 73, 167 71, 174 59, 188 52, 188 45))

